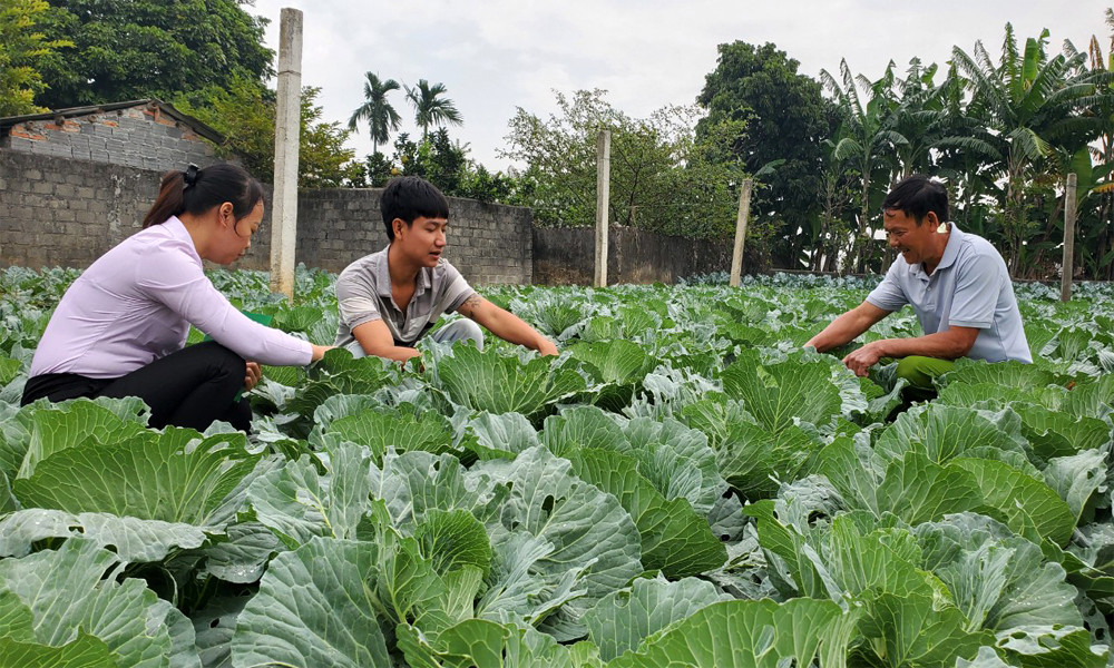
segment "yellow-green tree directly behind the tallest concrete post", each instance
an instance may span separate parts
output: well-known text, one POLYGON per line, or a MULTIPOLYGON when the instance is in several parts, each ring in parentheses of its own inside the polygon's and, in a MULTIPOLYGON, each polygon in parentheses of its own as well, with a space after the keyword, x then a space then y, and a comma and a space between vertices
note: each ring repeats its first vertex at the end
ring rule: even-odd
MULTIPOLYGON (((303 188, 361 185, 364 167, 344 148, 349 131, 339 122, 323 122, 316 106, 320 88, 304 87, 301 100, 297 184, 303 188)), ((235 79, 228 89, 209 88, 178 96, 174 105, 225 136, 218 153, 244 161, 256 177, 268 181, 275 159, 275 94, 255 81, 235 79)))

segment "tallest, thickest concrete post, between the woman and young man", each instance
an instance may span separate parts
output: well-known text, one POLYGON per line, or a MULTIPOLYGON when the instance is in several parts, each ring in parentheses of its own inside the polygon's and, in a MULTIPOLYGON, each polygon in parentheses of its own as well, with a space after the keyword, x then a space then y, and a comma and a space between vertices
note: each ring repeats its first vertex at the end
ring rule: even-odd
POLYGON ((302 120, 302 11, 282 10, 278 106, 275 114, 274 203, 271 209, 271 292, 294 299, 297 239, 297 143, 302 120))

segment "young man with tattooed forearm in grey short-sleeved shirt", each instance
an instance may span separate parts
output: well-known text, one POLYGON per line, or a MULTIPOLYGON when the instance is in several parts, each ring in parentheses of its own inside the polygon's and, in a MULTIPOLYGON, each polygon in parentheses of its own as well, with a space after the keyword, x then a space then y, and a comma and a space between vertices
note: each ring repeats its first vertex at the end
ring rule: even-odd
POLYGON ((478 295, 441 257, 449 202, 433 184, 417 176, 394 178, 383 190, 380 210, 390 245, 353 262, 336 281, 338 346, 358 357, 405 362, 421 354, 413 346, 441 314, 455 311, 470 320, 441 327, 436 341, 471 341, 482 348, 479 323, 499 338, 557 354, 551 341, 478 295))

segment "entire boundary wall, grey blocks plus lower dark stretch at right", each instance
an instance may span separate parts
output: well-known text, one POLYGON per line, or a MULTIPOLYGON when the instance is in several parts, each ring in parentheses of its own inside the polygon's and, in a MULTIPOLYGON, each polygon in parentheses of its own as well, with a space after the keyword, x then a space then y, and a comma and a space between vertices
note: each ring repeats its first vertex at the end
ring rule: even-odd
MULTIPOLYGON (((160 170, 136 169, 0 149, 0 266, 86 267, 139 229, 158 193, 160 170)), ((267 190, 267 202, 271 188, 267 190)), ((379 189, 299 194, 296 257, 340 272, 387 245, 379 189)), ((476 285, 590 285, 594 230, 532 228, 530 209, 449 199, 446 258, 476 285)), ((237 266, 266 269, 270 209, 262 234, 237 266)), ((726 272, 729 243, 665 237, 614 227, 608 283, 672 283, 726 272)))

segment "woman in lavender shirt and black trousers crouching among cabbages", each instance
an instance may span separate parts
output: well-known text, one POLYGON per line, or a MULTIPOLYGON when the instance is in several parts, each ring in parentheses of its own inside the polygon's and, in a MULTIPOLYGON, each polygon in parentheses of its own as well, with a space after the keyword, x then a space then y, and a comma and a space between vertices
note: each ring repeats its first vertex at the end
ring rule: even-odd
POLYGON ((205 276, 202 261, 242 257, 262 219, 263 187, 236 165, 164 176, 144 229, 66 291, 22 403, 138 396, 155 429, 224 420, 246 431, 251 406, 234 397, 258 382, 260 363, 305 365, 328 350, 252 321, 205 276), (184 347, 190 324, 213 341, 184 347))

